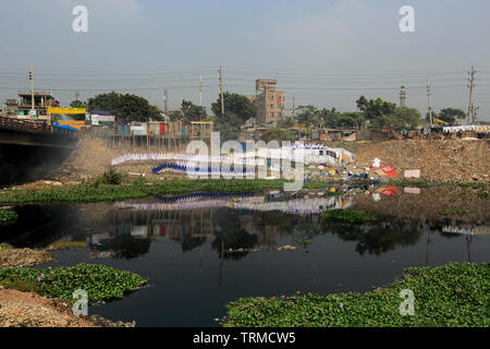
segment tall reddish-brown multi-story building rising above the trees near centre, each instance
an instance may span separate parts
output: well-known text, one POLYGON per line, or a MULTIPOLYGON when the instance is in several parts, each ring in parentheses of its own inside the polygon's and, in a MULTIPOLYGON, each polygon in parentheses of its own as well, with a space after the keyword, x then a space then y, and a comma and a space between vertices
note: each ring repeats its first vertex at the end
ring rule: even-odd
POLYGON ((258 109, 256 124, 270 125, 284 119, 284 93, 275 91, 277 84, 277 80, 256 80, 256 95, 248 96, 258 109))

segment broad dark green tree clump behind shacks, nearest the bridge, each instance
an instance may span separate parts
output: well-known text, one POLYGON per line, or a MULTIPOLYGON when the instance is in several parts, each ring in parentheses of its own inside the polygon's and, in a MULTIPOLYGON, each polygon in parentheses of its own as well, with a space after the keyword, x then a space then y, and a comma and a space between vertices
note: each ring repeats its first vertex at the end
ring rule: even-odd
POLYGON ((149 121, 160 119, 158 107, 149 105, 143 97, 131 94, 118 94, 111 92, 88 98, 90 110, 108 110, 115 116, 118 121, 149 121))

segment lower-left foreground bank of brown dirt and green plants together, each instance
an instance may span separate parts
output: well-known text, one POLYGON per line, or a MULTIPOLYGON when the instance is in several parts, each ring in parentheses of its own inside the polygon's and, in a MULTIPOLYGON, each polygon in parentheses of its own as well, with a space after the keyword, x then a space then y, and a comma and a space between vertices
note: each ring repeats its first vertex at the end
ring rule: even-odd
POLYGON ((0 327, 133 327, 99 315, 76 316, 73 292, 89 304, 122 298, 147 284, 140 276, 98 264, 37 269, 54 258, 46 250, 0 244, 0 327))

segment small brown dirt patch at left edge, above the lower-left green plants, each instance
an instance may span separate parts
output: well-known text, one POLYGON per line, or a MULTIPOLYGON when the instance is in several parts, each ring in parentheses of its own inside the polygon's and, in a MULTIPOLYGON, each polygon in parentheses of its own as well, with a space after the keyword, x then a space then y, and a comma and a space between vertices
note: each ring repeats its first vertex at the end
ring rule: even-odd
POLYGON ((0 248, 0 269, 15 266, 35 266, 54 261, 46 250, 0 248))

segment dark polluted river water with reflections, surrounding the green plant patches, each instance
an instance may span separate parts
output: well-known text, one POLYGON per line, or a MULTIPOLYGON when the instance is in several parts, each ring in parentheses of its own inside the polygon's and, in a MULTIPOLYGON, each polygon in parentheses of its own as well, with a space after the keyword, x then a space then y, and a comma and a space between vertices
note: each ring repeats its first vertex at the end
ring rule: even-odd
POLYGON ((462 188, 346 188, 15 206, 0 242, 51 249, 46 266, 99 263, 149 279, 89 314, 138 326, 219 326, 243 297, 365 292, 409 266, 489 262, 489 200, 462 188), (339 191, 339 190, 338 190, 339 191), (458 216, 442 209, 466 208, 458 216), (379 217, 323 221, 332 208, 379 217))

